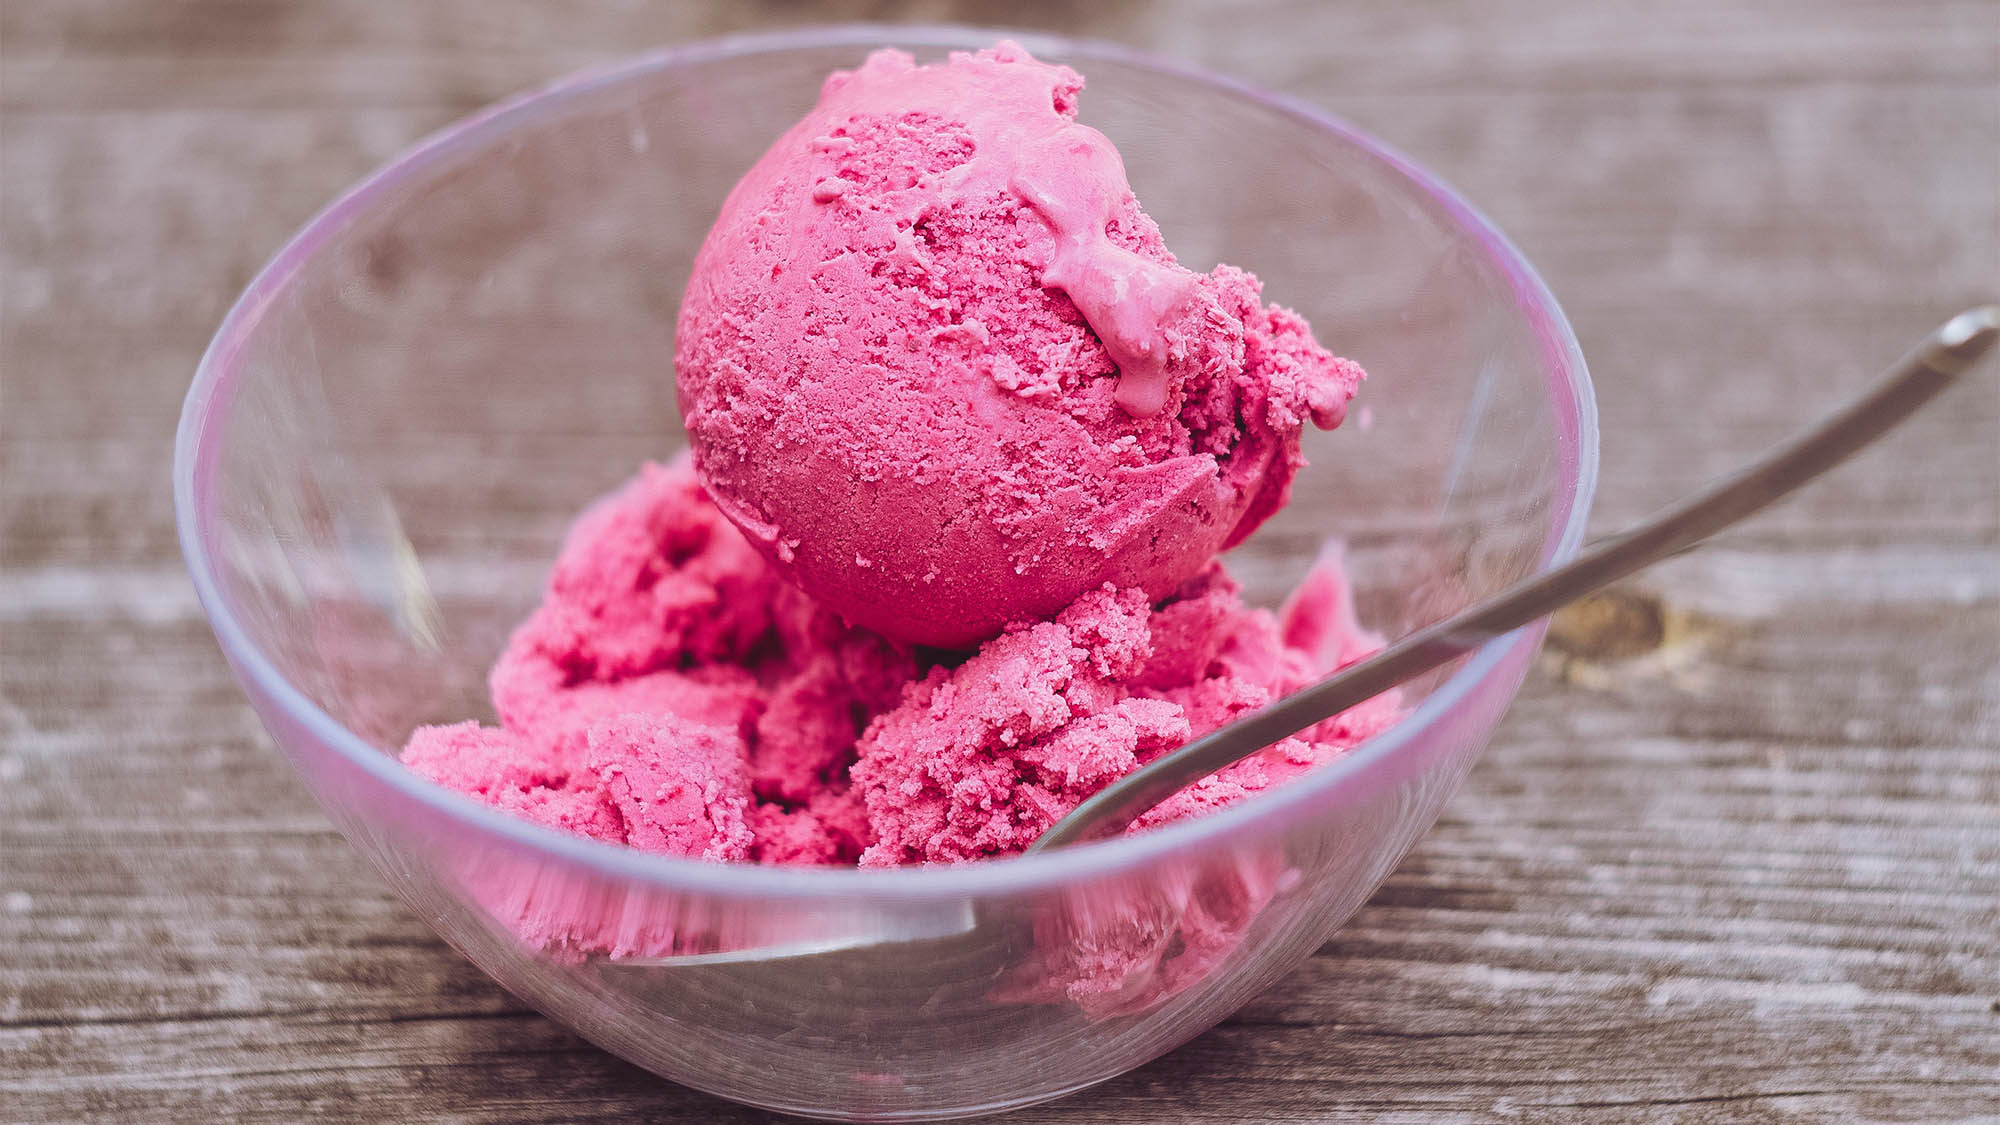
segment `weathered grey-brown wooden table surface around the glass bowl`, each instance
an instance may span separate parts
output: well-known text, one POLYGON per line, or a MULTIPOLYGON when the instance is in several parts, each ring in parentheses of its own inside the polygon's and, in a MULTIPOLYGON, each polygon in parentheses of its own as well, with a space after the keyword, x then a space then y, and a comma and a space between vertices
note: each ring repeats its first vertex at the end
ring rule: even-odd
MULTIPOLYGON (((0 6, 0 1119, 764 1119, 550 1025, 400 907, 258 729, 172 536, 174 416, 230 298, 516 88, 956 18, 1310 98, 1540 262, 1598 378, 1604 528, 2000 290, 1992 0, 700 8, 0 6)), ((1566 619, 1310 965, 1014 1121, 2000 1113, 1996 448, 1988 374, 1566 619)))

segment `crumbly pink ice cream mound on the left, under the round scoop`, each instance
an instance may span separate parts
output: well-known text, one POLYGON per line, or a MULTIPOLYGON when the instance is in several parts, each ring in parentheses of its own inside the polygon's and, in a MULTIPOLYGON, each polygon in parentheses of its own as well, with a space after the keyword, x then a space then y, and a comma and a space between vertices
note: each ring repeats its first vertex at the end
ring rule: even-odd
POLYGON ((646 851, 854 863, 854 743, 916 673, 782 583, 686 462, 648 464, 570 528, 494 665, 500 727, 424 727, 404 761, 646 851))

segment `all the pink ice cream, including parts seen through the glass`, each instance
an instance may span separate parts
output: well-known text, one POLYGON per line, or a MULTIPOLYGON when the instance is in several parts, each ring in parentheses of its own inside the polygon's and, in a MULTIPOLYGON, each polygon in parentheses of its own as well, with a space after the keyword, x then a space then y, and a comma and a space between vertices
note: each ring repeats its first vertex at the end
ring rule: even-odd
MULTIPOLYGON (((576 520, 492 669, 498 727, 416 731, 414 771, 662 855, 998 859, 1380 645, 1336 554, 1278 613, 1214 558, 1284 504, 1304 422, 1338 424, 1360 368, 1250 274, 1182 268, 1076 124, 1080 88, 1014 44, 828 78, 688 282, 692 458, 576 520)), ((1282 785, 1398 715, 1370 701, 1130 831, 1282 785)), ((992 987, 1144 1011, 1244 941, 1280 867, 1226 857, 1066 903, 992 987)), ((568 871, 460 877, 552 955, 764 941, 568 871)))

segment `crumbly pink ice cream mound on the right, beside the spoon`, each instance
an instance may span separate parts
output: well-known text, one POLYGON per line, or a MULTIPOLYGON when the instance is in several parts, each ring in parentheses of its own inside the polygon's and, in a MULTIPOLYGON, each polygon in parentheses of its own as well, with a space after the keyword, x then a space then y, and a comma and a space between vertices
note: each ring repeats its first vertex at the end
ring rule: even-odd
MULTIPOLYGON (((1092 591, 932 669, 862 737, 850 771, 872 829, 862 865, 1014 855, 1098 789, 1312 683, 1330 653, 1372 649, 1326 631, 1352 621, 1320 601, 1346 601, 1336 571, 1306 591, 1280 621, 1246 609, 1210 565, 1160 609, 1138 591, 1092 591)), ((1372 701, 1174 795, 1134 831, 1234 805, 1394 719, 1392 699, 1372 701)))

